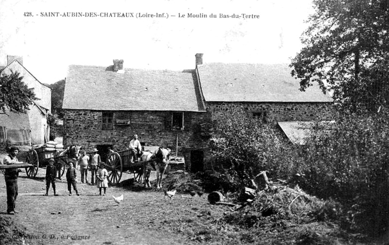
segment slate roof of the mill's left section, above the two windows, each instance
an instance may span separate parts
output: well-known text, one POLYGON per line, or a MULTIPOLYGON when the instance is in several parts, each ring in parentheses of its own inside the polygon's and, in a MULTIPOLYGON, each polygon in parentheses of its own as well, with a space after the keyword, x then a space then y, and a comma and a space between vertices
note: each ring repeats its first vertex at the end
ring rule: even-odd
POLYGON ((69 66, 63 109, 109 111, 205 111, 195 70, 69 66))

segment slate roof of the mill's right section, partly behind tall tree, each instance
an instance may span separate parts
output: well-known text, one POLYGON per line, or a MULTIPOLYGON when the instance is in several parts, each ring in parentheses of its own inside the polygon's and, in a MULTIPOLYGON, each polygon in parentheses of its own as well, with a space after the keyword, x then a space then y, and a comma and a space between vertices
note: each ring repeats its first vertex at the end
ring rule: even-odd
POLYGON ((318 85, 305 92, 288 65, 204 63, 198 68, 205 101, 332 102, 318 85))

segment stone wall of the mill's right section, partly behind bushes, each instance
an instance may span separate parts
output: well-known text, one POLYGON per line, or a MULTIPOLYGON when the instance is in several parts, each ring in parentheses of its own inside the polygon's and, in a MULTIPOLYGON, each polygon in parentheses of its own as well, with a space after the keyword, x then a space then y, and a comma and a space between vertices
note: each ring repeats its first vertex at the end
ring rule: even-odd
POLYGON ((266 112, 267 121, 311 121, 332 119, 333 103, 328 102, 207 102, 212 120, 229 108, 243 108, 248 112, 266 112))

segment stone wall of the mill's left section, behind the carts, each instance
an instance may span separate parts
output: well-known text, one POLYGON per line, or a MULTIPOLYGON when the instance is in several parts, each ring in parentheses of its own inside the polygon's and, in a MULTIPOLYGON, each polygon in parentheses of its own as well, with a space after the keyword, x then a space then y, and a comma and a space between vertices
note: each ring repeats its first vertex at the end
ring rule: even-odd
POLYGON ((134 134, 146 146, 169 147, 176 154, 182 149, 204 145, 200 124, 206 122, 206 113, 185 112, 184 130, 172 130, 172 112, 160 111, 115 111, 113 130, 102 130, 102 111, 66 110, 64 116, 64 144, 76 144, 86 149, 97 145, 113 145, 115 151, 128 147, 134 134), (116 120, 129 120, 128 125, 119 125, 116 120))

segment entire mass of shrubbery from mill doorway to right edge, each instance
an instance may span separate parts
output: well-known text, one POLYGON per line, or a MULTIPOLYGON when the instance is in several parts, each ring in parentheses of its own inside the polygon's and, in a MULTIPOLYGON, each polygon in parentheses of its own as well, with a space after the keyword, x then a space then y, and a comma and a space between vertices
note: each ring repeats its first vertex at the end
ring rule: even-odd
POLYGON ((210 146, 239 184, 263 170, 287 177, 309 194, 342 203, 349 228, 378 235, 389 222, 389 115, 335 117, 318 122, 307 145, 296 146, 283 142, 273 125, 231 109, 218 120, 210 146))

